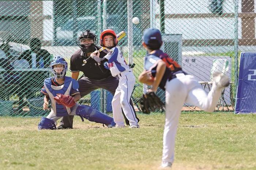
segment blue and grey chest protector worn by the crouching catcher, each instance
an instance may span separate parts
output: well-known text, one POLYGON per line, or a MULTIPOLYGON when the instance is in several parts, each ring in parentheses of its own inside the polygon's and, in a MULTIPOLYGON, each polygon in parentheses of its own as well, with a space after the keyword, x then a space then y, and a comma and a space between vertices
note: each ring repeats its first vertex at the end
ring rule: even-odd
POLYGON ((73 87, 74 89, 77 89, 78 83, 73 81, 71 77, 65 76, 64 84, 61 86, 53 86, 51 80, 52 78, 45 79, 44 87, 51 100, 53 111, 56 116, 67 116, 71 112, 70 108, 57 103, 53 98, 57 94, 70 95, 71 88, 73 87))

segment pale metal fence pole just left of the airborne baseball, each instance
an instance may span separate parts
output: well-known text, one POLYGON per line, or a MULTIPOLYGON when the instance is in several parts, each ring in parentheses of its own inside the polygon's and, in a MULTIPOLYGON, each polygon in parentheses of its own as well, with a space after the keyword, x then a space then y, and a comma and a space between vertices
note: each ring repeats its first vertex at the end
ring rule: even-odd
POLYGON ((133 64, 132 0, 127 0, 128 13, 128 63, 133 64))

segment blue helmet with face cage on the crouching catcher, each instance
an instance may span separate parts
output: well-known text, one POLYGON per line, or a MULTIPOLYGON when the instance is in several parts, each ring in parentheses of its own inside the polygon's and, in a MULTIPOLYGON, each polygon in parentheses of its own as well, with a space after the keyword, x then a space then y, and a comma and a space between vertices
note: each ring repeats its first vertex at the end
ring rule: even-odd
POLYGON ((68 70, 68 63, 61 56, 55 56, 53 62, 50 65, 52 73, 56 79, 62 79, 66 75, 68 70), (56 67, 57 66, 57 67, 56 67))

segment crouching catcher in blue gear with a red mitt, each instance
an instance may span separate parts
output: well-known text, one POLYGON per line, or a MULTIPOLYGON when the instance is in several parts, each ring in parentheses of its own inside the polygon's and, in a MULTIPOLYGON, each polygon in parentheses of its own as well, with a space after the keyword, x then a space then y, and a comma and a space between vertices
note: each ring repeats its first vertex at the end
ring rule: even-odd
POLYGON ((41 92, 44 97, 44 110, 48 110, 49 99, 52 103, 50 114, 42 117, 38 129, 57 129, 56 120, 68 115, 78 115, 91 122, 102 123, 107 127, 114 127, 113 118, 105 115, 90 106, 79 105, 76 102, 80 99, 78 82, 71 77, 65 76, 68 63, 61 56, 56 56, 50 64, 54 77, 44 80, 44 87, 41 92))

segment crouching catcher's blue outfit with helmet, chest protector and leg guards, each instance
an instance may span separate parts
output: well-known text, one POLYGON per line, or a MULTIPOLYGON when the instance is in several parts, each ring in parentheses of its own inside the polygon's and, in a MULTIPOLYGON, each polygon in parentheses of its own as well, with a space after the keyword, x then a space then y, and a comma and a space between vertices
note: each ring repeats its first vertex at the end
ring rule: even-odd
MULTIPOLYGON (((65 65, 66 70, 67 62, 60 56, 56 57, 51 63, 52 70, 54 70, 53 66, 60 64, 65 65)), ((89 121, 106 124, 109 127, 115 126, 116 123, 114 123, 113 118, 91 108, 90 106, 75 104, 75 106, 69 108, 57 103, 54 100, 54 97, 57 94, 70 96, 79 93, 78 82, 71 77, 65 76, 65 70, 61 75, 58 74, 58 72, 53 72, 54 78, 47 78, 44 81, 44 87, 42 88, 41 92, 46 96, 49 96, 52 103, 52 109, 46 118, 42 117, 40 123, 38 124, 38 129, 56 129, 56 120, 60 119, 62 116, 68 115, 78 115, 82 118, 82 120, 83 118, 86 118, 89 121), (64 84, 54 82, 54 79, 56 78, 64 78, 64 84)))

